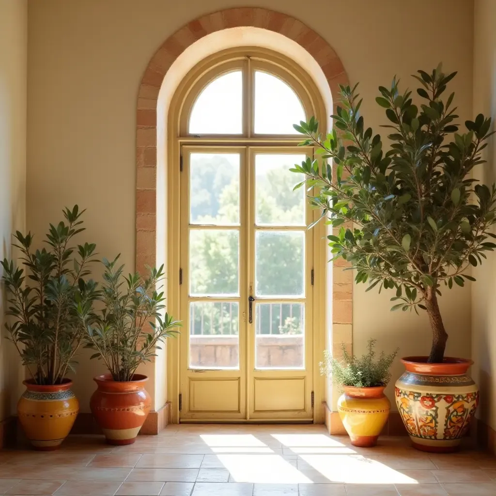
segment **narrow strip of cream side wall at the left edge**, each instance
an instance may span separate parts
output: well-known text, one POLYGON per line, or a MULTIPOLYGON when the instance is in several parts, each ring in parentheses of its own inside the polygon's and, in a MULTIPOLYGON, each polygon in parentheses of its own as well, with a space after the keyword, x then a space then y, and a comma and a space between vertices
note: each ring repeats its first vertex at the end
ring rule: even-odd
MULTIPOLYGON (((27 2, 0 0, 0 258, 10 258, 11 233, 25 229, 27 2)), ((1 274, 0 269, 0 274, 1 274)), ((3 339, 5 294, 0 289, 0 420, 15 411, 22 367, 3 339)))

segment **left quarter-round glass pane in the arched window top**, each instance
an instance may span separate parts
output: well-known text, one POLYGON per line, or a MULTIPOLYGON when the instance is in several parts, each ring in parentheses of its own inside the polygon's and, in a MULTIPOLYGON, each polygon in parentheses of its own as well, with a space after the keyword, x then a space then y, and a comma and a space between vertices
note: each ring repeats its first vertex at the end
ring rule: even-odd
POLYGON ((243 132, 243 74, 228 72, 209 83, 198 95, 189 118, 190 134, 243 132))

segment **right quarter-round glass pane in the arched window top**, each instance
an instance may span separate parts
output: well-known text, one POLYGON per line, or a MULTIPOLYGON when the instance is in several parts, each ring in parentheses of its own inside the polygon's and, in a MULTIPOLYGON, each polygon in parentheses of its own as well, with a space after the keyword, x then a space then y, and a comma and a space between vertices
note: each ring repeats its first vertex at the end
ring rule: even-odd
POLYGON ((258 134, 298 134, 293 124, 306 121, 293 89, 272 74, 255 71, 254 130, 258 134))

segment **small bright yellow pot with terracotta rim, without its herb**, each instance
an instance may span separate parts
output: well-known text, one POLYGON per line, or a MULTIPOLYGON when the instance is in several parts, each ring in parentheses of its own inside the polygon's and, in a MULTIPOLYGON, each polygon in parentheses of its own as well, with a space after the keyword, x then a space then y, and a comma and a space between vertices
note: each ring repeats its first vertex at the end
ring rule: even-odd
POLYGON ((391 409, 384 387, 343 386, 338 412, 354 446, 372 447, 377 443, 391 409))

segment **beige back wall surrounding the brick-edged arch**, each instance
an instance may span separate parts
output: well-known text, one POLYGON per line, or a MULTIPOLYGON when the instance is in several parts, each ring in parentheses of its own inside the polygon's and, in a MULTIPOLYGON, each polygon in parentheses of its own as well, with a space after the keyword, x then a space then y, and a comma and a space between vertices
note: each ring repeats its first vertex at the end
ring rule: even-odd
MULTIPOLYGON (((439 61, 446 70, 459 71, 452 87, 462 120, 471 116, 472 1, 359 0, 353 2, 352 11, 349 2, 340 1, 249 3, 296 17, 329 42, 350 80, 361 82, 368 125, 378 128, 384 123, 374 102, 378 85, 389 84, 394 74, 404 84, 414 84, 411 73, 439 61), (352 19, 345 21, 350 15, 352 19)), ((143 71, 162 42, 188 21, 246 5, 245 0, 29 2, 27 224, 31 231, 45 232, 64 205, 78 203, 88 209, 88 241, 96 242, 102 255, 121 252, 126 265, 133 267, 135 113, 143 71)), ((371 336, 378 339, 378 349, 401 346, 403 355, 428 353, 427 318, 390 314, 392 294, 364 291, 360 287, 354 293, 358 353, 371 336)), ((451 334, 448 351, 460 356, 470 356, 469 295, 470 289, 453 292, 442 302, 451 334)), ((393 374, 400 370, 397 365, 393 374)), ((74 390, 82 411, 88 411, 94 389, 91 376, 96 372, 96 363, 81 355, 74 390)))

